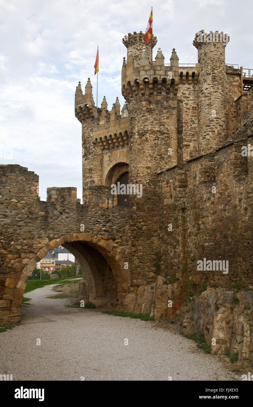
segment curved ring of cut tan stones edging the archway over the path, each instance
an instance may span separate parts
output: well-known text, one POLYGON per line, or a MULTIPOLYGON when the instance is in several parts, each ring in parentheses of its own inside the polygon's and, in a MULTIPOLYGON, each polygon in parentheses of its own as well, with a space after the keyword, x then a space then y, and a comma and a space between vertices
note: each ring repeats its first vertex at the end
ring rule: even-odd
MULTIPOLYGON (((37 255, 35 255, 34 258, 30 260, 27 259, 28 262, 25 265, 19 264, 20 268, 17 278, 6 278, 5 281, 4 294, 8 294, 8 300, 6 300, 6 304, 4 305, 4 311, 0 311, 1 324, 19 322, 21 318, 20 307, 24 289, 26 287, 26 280, 32 274, 37 262, 41 260, 41 258, 43 258, 49 250, 55 249, 59 245, 63 245, 66 248, 71 246, 77 252, 78 250, 81 250, 79 245, 81 245, 83 248, 83 244, 86 245, 86 249, 87 247, 92 247, 93 249, 97 250, 97 252, 103 256, 112 270, 112 274, 117 285, 117 298, 119 300, 119 304, 121 304, 126 295, 128 295, 129 271, 124 269, 124 259, 121 257, 121 255, 118 252, 114 253, 112 241, 107 241, 106 239, 103 239, 104 237, 106 236, 96 236, 90 233, 71 233, 61 236, 56 239, 52 239, 49 243, 40 248, 39 252, 37 252, 37 255)), ((44 240, 48 241, 48 239, 44 240)), ((85 247, 83 250, 85 251, 85 247)), ((98 274, 96 274, 94 262, 91 261, 92 259, 90 259, 89 256, 86 256, 85 258, 84 252, 79 252, 78 256, 82 256, 82 261, 86 261, 86 263, 83 264, 86 266, 85 273, 87 282, 90 282, 90 284, 88 284, 89 289, 91 290, 90 295, 93 296, 93 294, 95 294, 96 296, 97 293, 99 294, 99 289, 101 289, 101 287, 99 288, 98 274)))

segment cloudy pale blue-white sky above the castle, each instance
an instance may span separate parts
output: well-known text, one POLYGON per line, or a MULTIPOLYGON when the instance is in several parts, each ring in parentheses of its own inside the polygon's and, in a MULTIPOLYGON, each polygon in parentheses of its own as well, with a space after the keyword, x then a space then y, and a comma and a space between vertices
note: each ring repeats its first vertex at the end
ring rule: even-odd
MULTIPOLYGON (((74 114, 78 81, 88 77, 96 103, 94 63, 99 46, 98 106, 119 97, 127 49, 122 38, 145 32, 153 7, 153 33, 169 63, 196 63, 195 33, 230 36, 226 63, 253 68, 253 2, 195 0, 18 0, 0 2, 0 163, 39 175, 39 196, 50 187, 77 187, 82 198, 81 123, 74 114)), ((82 200, 81 200, 82 202, 82 200)))

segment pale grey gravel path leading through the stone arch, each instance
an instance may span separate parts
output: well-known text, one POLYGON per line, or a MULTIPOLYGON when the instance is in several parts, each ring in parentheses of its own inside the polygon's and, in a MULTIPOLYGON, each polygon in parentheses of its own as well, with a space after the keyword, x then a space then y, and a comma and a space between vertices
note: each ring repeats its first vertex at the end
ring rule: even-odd
POLYGON ((0 333, 1 374, 13 380, 239 380, 190 339, 140 319, 66 308, 69 299, 46 298, 52 287, 27 293, 31 305, 23 308, 20 326, 0 333))

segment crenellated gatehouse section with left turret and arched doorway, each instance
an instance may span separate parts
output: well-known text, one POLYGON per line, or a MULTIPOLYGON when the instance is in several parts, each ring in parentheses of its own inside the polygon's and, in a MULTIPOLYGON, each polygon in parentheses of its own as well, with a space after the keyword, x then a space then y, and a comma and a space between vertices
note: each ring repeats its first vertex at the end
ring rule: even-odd
MULTIPOLYGON (((104 96, 101 108, 96 107, 88 78, 85 94, 80 82, 76 87, 75 116, 82 123, 82 184, 86 201, 88 186, 110 186, 128 173, 128 106, 125 104, 121 111, 117 97, 109 111, 104 96)), ((117 203, 117 197, 114 198, 117 203)))

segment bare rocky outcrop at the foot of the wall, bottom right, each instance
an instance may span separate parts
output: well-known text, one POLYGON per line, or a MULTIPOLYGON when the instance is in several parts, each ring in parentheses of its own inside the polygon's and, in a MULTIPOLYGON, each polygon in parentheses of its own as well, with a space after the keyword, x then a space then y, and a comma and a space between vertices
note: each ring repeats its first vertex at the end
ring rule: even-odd
POLYGON ((212 353, 225 358, 238 352, 239 359, 253 361, 253 291, 208 288, 184 318, 187 333, 203 333, 212 353))

